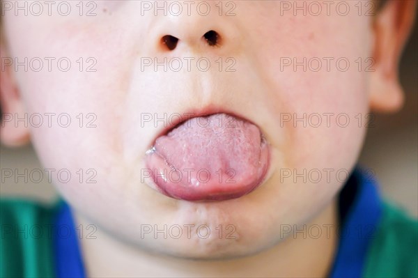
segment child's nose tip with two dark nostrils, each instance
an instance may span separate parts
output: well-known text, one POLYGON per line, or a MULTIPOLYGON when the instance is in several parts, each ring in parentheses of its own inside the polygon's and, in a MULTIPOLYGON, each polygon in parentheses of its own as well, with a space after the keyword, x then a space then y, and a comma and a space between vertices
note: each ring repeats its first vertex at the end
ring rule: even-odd
POLYGON ((209 5, 206 8, 195 5, 179 8, 176 14, 169 9, 154 14, 149 25, 150 45, 158 52, 233 51, 240 36, 234 18, 219 15, 217 3, 210 2, 204 1, 209 5))

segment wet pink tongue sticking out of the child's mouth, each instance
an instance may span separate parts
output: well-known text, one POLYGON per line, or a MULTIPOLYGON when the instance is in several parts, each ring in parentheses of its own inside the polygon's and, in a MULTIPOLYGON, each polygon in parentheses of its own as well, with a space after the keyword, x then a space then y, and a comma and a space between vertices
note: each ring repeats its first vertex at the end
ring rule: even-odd
POLYGON ((148 171, 162 193, 189 201, 251 192, 269 159, 256 125, 226 114, 190 118, 158 137, 147 153, 148 171))

